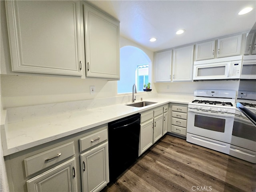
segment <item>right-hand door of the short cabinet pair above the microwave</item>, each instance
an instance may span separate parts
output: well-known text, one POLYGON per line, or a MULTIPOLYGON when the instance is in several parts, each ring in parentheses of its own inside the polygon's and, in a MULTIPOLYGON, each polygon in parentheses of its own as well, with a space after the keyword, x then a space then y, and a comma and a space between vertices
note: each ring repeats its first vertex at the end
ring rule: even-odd
POLYGON ((242 34, 218 40, 217 58, 241 54, 242 34))

